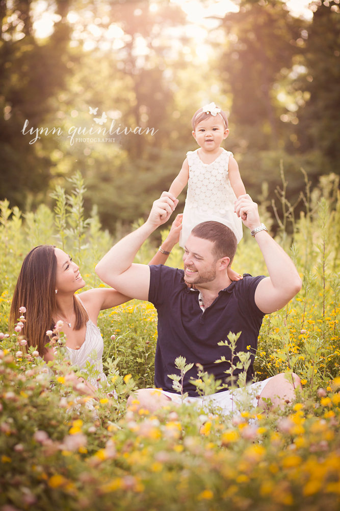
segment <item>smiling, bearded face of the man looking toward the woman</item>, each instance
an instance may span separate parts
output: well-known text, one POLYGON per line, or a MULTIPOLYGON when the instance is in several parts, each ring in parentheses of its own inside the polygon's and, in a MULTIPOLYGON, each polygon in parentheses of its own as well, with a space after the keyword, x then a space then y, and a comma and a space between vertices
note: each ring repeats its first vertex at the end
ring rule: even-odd
POLYGON ((217 265, 222 269, 228 266, 229 258, 216 261, 214 245, 210 240, 189 236, 183 255, 185 282, 195 285, 213 282, 218 276, 217 265))

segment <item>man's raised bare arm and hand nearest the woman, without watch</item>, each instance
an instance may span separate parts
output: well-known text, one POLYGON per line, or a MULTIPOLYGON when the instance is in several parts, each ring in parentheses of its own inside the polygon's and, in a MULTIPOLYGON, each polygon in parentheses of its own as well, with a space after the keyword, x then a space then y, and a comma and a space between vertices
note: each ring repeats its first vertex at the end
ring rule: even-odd
POLYGON ((163 192, 155 200, 149 218, 139 229, 114 245, 96 266, 96 273, 103 282, 131 298, 147 300, 150 285, 150 267, 133 264, 135 255, 153 231, 164 224, 174 211, 178 200, 163 192))

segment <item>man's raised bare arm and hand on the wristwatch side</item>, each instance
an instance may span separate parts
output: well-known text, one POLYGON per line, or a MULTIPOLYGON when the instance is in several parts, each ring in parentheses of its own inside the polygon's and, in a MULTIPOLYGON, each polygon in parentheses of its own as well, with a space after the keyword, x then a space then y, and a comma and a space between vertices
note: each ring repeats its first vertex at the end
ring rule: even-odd
MULTIPOLYGON (((257 204, 248 194, 235 202, 235 211, 250 230, 260 225, 257 204)), ((301 289, 301 278, 293 261, 264 230, 255 234, 266 262, 269 277, 261 280, 255 291, 255 304, 265 314, 282 309, 301 289)))

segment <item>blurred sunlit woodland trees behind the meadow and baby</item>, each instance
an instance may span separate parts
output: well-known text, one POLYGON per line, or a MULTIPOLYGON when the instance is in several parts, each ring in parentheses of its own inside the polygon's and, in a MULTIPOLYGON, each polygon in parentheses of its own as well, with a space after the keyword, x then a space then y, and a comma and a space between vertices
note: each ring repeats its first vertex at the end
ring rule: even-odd
MULTIPOLYGON (((225 148, 247 191, 258 200, 267 182, 273 193, 282 160, 295 202, 301 167, 312 184, 339 174, 338 1, 311 3, 307 19, 279 0, 234 0, 237 12, 199 26, 179 0, 2 0, 0 199, 34 210, 80 170, 86 208, 97 204, 103 226, 119 231, 168 189, 197 147, 193 113, 215 101, 230 114, 225 148), (106 112, 106 129, 157 131, 71 145, 72 126, 99 127, 90 106, 97 118, 106 112), (63 134, 29 144, 26 119, 28 129, 63 134)), ((179 198, 180 208, 185 192, 179 198)))

